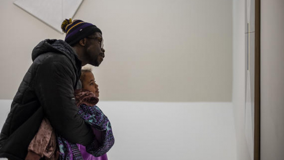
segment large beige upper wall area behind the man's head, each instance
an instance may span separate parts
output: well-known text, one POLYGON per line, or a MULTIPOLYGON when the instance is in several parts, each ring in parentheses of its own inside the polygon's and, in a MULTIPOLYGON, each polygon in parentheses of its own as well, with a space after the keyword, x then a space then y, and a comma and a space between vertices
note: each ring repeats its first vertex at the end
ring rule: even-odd
MULTIPOLYGON (((13 98, 40 40, 64 38, 12 2, 0 1, 0 99, 13 98)), ((103 31, 101 100, 231 101, 232 1, 85 0, 74 18, 103 31)))

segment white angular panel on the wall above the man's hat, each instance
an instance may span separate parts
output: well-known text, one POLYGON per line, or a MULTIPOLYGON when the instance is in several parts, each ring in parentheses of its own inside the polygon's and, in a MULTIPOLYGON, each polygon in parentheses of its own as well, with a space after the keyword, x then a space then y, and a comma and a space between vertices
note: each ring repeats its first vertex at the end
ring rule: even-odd
POLYGON ((62 33, 61 23, 73 18, 83 0, 17 0, 15 5, 62 33))

